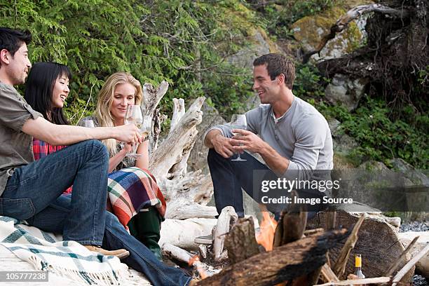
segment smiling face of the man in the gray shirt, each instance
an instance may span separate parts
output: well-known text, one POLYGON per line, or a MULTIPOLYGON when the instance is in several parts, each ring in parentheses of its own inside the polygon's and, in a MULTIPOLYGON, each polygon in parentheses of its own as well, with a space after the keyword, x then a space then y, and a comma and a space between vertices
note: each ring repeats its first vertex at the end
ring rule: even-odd
POLYGON ((280 86, 277 78, 271 80, 265 64, 253 67, 252 88, 258 93, 261 103, 273 104, 280 93, 280 86))

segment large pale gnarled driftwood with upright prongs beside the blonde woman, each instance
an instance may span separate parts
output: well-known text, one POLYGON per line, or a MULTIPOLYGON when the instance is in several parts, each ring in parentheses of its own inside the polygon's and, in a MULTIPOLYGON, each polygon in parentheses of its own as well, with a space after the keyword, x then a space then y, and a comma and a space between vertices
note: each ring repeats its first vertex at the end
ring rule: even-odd
POLYGON ((167 90, 168 83, 165 81, 158 88, 145 83, 142 104, 143 114, 152 118, 149 170, 165 196, 168 205, 165 217, 214 218, 217 215, 215 207, 206 206, 213 193, 210 175, 186 171, 186 161, 198 133, 196 125, 202 120, 200 109, 205 97, 198 97, 187 111, 184 100, 174 99, 170 131, 167 138, 159 142, 161 123, 165 116, 161 116, 157 107, 167 90))

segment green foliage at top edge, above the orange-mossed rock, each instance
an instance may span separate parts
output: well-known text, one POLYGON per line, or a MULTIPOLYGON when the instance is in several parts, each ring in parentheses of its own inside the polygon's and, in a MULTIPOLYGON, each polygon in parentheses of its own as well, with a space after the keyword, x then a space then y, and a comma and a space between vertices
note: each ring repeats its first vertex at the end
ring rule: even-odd
POLYGON ((293 34, 290 26, 294 22, 305 16, 315 15, 328 8, 332 8, 339 1, 341 0, 287 0, 281 6, 278 4, 269 4, 265 8, 266 27, 271 34, 282 38, 290 38, 293 34))

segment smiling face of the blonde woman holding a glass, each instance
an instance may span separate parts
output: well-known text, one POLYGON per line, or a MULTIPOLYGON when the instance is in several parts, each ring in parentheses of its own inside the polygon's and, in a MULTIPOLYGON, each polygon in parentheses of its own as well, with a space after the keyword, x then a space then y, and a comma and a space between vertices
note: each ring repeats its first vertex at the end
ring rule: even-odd
POLYGON ((110 107, 110 114, 115 123, 123 124, 127 106, 135 104, 135 93, 136 89, 130 83, 121 83, 116 86, 110 107))

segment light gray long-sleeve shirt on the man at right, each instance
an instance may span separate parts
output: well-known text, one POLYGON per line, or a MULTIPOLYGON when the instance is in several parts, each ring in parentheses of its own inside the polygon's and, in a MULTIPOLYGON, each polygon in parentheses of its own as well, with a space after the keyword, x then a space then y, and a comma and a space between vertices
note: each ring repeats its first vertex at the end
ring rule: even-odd
MULTIPOLYGON (((261 104, 247 111, 246 119, 247 130, 290 160, 282 177, 308 180, 313 170, 332 170, 331 131, 325 117, 311 104, 294 97, 290 109, 277 119, 270 104, 261 104)), ((216 125, 207 132, 212 129, 220 130, 225 137, 233 136, 230 125, 216 125)))

